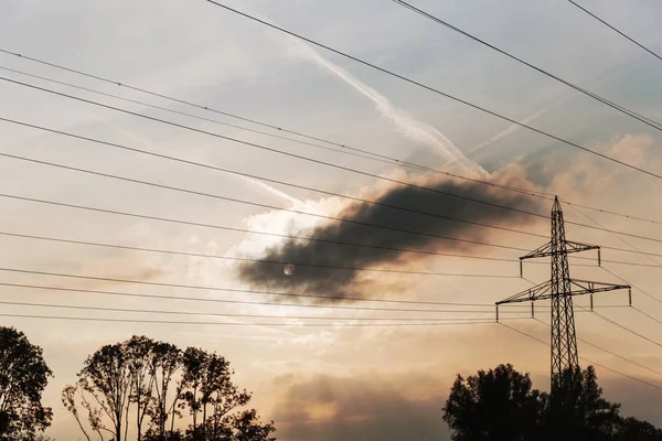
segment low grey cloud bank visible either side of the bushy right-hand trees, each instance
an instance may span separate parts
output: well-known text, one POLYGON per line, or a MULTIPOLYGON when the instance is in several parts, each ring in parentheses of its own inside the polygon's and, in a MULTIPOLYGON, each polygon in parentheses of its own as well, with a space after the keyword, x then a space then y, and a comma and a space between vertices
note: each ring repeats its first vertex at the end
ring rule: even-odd
MULTIPOLYGON (((547 381, 534 375, 535 388, 547 381)), ((609 375, 598 381, 606 399, 622 405, 621 416, 662 424, 656 390, 609 375)), ((271 418, 281 441, 450 440, 441 417, 451 384, 421 372, 288 375, 274 383, 281 395, 271 418)))

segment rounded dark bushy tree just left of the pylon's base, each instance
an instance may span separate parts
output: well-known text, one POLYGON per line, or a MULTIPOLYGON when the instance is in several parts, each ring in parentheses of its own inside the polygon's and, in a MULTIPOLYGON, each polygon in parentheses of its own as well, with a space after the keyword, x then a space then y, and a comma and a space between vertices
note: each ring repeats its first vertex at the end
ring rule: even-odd
POLYGON ((512 365, 463 378, 458 375, 444 408, 455 441, 535 439, 541 401, 528 374, 512 365))

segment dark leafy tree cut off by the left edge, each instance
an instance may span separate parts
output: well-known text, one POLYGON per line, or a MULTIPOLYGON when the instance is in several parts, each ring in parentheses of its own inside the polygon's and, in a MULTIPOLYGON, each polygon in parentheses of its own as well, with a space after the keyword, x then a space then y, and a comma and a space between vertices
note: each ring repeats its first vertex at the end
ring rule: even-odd
POLYGON ((53 373, 41 347, 13 327, 0 327, 0 439, 34 439, 51 424, 53 412, 41 404, 53 373))

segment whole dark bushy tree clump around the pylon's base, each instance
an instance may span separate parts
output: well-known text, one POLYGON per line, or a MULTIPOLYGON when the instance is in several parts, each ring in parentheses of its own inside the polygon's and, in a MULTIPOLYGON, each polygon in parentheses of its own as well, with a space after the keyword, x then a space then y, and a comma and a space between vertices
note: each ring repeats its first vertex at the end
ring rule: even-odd
POLYGON ((620 405, 602 397, 592 367, 565 372, 558 380, 544 394, 532 388, 528 374, 511 365, 466 379, 458 375, 444 420, 455 441, 662 441, 662 430, 619 416, 620 405))

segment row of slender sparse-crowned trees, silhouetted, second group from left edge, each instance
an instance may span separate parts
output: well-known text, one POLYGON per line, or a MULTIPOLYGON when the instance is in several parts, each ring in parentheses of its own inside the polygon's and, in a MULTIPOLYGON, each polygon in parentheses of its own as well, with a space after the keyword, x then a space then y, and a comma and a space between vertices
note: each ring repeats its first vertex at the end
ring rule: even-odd
POLYGON ((216 353, 134 336, 90 355, 62 400, 88 441, 92 432, 113 441, 129 433, 138 441, 274 440, 274 423, 245 408, 250 394, 233 374, 216 353), (190 416, 184 431, 175 429, 183 411, 190 416))

